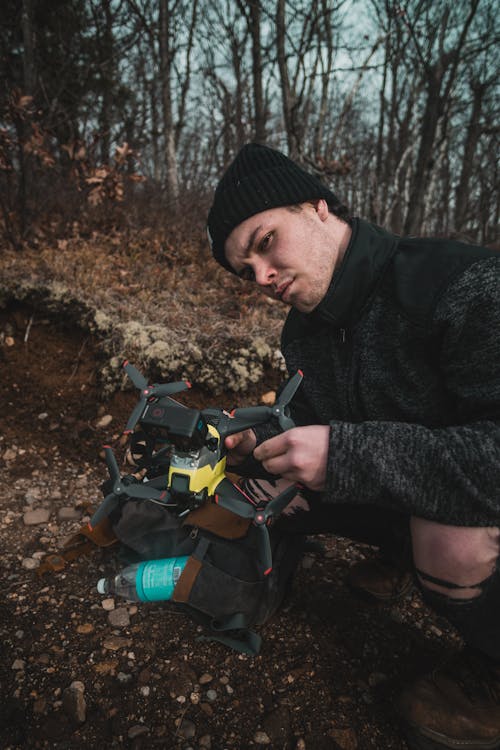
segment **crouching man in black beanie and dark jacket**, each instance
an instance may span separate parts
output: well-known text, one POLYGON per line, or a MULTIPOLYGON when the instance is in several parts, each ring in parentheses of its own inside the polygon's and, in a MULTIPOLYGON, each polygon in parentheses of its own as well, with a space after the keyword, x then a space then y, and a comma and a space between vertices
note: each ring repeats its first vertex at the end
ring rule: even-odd
MULTIPOLYGON (((208 235, 219 263, 291 305, 282 352, 304 374, 297 426, 227 438, 231 462, 302 483, 316 530, 400 561, 406 544, 466 644, 401 696, 409 745, 500 747, 500 255, 350 219, 256 144, 222 177, 208 235)), ((404 590, 390 572, 365 565, 355 585, 384 598, 387 573, 389 598, 404 590)))

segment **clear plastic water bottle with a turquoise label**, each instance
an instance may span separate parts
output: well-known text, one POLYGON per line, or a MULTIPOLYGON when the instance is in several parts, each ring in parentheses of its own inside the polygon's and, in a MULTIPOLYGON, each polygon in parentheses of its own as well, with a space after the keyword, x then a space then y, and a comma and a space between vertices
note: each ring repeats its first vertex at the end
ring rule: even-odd
POLYGON ((118 594, 136 602, 171 599, 188 560, 188 556, 167 557, 129 565, 114 578, 101 578, 97 591, 100 594, 118 594))

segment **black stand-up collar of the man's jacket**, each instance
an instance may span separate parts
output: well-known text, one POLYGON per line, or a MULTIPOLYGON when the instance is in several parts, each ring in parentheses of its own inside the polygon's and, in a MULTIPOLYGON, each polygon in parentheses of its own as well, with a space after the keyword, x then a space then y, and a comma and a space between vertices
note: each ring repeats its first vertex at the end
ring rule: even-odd
POLYGON ((377 280, 396 248, 398 237, 363 219, 354 219, 342 263, 328 291, 311 313, 338 328, 358 320, 377 280))

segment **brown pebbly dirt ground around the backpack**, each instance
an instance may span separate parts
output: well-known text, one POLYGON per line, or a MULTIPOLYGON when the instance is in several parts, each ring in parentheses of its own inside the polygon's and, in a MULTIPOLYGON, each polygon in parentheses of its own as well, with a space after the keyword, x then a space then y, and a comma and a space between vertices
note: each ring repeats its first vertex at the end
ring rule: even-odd
POLYGON ((387 607, 356 599, 344 578, 366 547, 322 538, 255 658, 197 641, 161 605, 104 609, 95 585, 117 569, 112 551, 37 575, 101 497, 99 452, 135 395, 101 402, 95 342, 32 314, 0 312, 0 747, 406 748, 395 697, 456 636, 415 592, 387 607))

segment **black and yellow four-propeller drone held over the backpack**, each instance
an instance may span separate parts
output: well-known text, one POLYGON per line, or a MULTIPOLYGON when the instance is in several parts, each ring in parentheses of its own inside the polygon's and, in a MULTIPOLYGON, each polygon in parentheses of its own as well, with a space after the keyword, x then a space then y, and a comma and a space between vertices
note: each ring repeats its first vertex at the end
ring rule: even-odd
POLYGON ((288 405, 303 374, 298 370, 285 384, 272 406, 250 406, 228 412, 220 408, 202 410, 184 406, 173 395, 191 388, 188 381, 149 384, 127 360, 123 368, 139 390, 125 434, 137 471, 144 476, 120 475, 112 448, 104 446, 111 492, 89 522, 95 528, 122 500, 134 498, 156 502, 178 516, 213 501, 222 508, 249 519, 261 532, 264 575, 272 570, 268 525, 295 497, 293 484, 269 502, 256 503, 226 476, 225 438, 275 418, 283 431, 295 427, 288 405), (136 427, 139 426, 139 431, 136 427))

